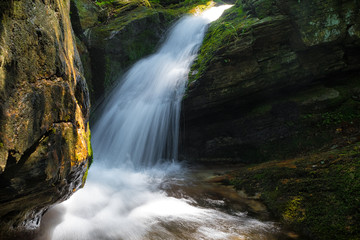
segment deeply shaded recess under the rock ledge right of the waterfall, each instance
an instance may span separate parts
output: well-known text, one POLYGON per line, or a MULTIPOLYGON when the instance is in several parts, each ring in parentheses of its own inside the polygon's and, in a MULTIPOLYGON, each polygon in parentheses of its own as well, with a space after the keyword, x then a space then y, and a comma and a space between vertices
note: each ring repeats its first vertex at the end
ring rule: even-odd
POLYGON ((360 118, 360 104, 353 100, 354 91, 350 90, 359 86, 359 81, 357 71, 334 74, 331 78, 310 82, 310 85, 273 92, 266 89, 266 92, 241 99, 231 98, 196 112, 186 112, 185 106, 181 123, 181 157, 194 161, 218 159, 255 163, 294 157, 331 145, 332 139, 338 137, 336 129, 341 128, 341 123, 343 126, 354 125, 360 118), (291 99, 307 94, 309 86, 310 89, 322 88, 324 84, 338 89, 342 95, 307 105, 291 99), (330 118, 329 124, 325 123, 327 118, 330 118))

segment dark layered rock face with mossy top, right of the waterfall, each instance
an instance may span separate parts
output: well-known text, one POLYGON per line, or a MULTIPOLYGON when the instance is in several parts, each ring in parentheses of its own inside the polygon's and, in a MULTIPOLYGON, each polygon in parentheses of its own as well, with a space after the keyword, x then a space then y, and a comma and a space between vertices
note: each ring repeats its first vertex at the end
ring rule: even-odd
POLYGON ((183 103, 183 154, 262 161, 355 141, 359 2, 242 0, 209 29, 183 103))

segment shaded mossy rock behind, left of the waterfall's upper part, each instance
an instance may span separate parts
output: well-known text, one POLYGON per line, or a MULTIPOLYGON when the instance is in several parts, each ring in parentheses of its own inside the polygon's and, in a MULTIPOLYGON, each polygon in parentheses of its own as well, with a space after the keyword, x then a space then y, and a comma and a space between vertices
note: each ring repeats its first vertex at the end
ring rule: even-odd
POLYGON ((169 27, 166 18, 163 13, 141 7, 89 31, 87 39, 96 99, 108 92, 133 63, 153 53, 169 27))

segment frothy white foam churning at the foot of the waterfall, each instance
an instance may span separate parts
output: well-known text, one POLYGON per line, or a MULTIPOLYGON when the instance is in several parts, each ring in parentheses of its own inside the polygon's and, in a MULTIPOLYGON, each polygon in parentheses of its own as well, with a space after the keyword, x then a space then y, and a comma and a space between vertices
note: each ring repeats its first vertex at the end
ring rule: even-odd
POLYGON ((274 230, 244 213, 230 215, 168 196, 161 183, 185 170, 175 163, 161 169, 93 166, 86 187, 55 207, 63 212, 61 222, 39 239, 251 239, 254 233, 253 239, 262 239, 274 230))

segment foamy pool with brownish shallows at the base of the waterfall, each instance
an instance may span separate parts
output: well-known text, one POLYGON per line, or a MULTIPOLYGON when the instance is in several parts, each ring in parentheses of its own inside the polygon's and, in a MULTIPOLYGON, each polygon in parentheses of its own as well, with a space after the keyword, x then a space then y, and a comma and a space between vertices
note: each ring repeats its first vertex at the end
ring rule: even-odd
POLYGON ((226 169, 168 163, 91 171, 96 177, 45 215, 35 239, 300 239, 272 221, 261 202, 214 181, 226 169))

